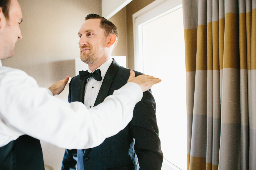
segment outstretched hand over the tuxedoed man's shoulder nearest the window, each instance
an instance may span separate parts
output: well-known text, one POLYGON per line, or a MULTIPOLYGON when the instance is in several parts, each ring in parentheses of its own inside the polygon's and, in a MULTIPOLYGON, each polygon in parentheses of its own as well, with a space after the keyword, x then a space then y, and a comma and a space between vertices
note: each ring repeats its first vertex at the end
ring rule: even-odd
POLYGON ((143 92, 149 90, 154 84, 159 83, 160 81, 162 81, 159 78, 155 78, 153 76, 148 76, 148 75, 140 75, 135 77, 135 72, 133 70, 130 71, 130 77, 127 81, 128 82, 134 82, 137 83, 143 92))

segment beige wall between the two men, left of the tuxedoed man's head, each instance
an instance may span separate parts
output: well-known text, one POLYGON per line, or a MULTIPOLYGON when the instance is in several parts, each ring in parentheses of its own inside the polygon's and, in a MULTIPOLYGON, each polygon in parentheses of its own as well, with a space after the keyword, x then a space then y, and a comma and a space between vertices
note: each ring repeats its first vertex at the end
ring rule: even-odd
MULTIPOLYGON (((23 39, 16 55, 2 60, 3 66, 24 70, 39 86, 49 87, 75 75, 74 58, 80 57, 77 32, 90 13, 101 14, 101 0, 18 0, 23 12, 23 39)), ((67 100, 68 88, 58 96, 67 100)), ((61 169, 64 149, 41 141, 44 161, 61 169)))

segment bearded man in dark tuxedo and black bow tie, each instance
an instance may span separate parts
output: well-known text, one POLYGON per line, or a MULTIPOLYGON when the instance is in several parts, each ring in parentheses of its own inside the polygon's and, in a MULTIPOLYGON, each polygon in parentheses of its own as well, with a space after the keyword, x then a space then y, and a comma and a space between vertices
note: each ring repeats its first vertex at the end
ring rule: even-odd
MULTIPOLYGON (((80 75, 71 79, 68 100, 80 101, 89 109, 122 87, 129 78, 130 69, 111 58, 118 30, 109 20, 98 14, 87 15, 78 36, 81 60, 89 68, 88 71, 79 71, 80 75)), ((141 74, 135 71, 135 75, 141 74)), ((123 130, 106 138, 97 147, 66 149, 62 170, 75 168, 76 165, 79 170, 160 170, 163 153, 155 110, 151 90, 145 91, 142 100, 135 105, 131 122, 123 130)))

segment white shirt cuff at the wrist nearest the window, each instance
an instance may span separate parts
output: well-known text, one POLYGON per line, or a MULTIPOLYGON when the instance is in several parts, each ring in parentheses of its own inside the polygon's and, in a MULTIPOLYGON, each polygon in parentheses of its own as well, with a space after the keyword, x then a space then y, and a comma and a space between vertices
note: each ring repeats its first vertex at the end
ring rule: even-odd
POLYGON ((125 90, 129 91, 131 93, 131 95, 133 96, 133 99, 136 101, 136 103, 141 101, 141 99, 143 97, 143 91, 137 83, 128 82, 120 89, 125 89, 125 90))

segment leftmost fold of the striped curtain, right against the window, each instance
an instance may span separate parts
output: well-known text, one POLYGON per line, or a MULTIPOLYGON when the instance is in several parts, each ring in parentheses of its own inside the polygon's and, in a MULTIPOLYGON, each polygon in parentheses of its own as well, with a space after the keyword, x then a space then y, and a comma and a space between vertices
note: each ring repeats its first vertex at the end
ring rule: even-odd
POLYGON ((186 53, 186 99, 187 99, 187 169, 190 162, 190 148, 192 137, 192 121, 196 76, 196 47, 197 47, 197 16, 198 1, 185 0, 183 3, 187 10, 183 10, 185 53, 186 53), (193 17, 189 17, 192 15, 193 17))

